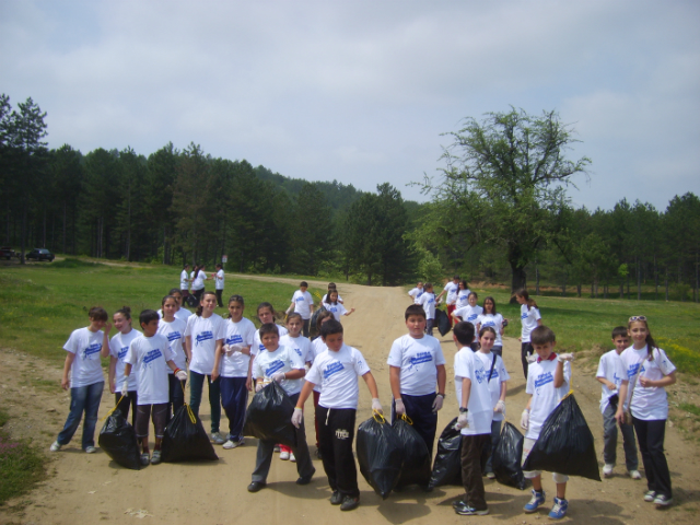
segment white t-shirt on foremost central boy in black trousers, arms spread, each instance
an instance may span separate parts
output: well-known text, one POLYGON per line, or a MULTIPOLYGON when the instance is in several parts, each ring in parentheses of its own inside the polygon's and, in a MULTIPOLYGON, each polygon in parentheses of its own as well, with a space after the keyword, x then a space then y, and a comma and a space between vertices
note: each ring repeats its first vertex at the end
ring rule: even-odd
POLYGON ((306 380, 320 385, 318 405, 324 408, 358 408, 360 387, 358 377, 370 372, 370 366, 357 348, 347 346, 332 352, 327 350, 314 359, 306 380))

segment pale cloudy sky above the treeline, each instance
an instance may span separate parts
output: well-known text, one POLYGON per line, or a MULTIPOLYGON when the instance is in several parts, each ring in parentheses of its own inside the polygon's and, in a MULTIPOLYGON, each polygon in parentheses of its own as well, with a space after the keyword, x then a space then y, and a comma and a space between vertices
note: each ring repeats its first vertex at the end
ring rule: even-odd
POLYGON ((556 110, 574 206, 663 210, 700 195, 698 27, 693 0, 0 0, 0 92, 50 148, 194 142, 419 201, 466 117, 556 110))

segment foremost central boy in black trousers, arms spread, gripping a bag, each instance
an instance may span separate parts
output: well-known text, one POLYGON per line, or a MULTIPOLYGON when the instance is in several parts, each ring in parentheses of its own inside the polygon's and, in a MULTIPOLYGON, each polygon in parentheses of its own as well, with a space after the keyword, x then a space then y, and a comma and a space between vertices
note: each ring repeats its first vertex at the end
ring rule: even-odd
POLYGON ((327 351, 314 359, 306 374, 306 383, 296 401, 292 423, 300 428, 303 422, 304 402, 315 385, 320 385, 320 398, 316 408, 318 441, 324 470, 332 490, 331 505, 341 511, 351 511, 360 504, 358 470, 352 455, 354 420, 358 411, 361 376, 372 395, 372 410, 382 412, 376 382, 362 353, 343 343, 342 325, 329 319, 320 327, 320 337, 327 351))

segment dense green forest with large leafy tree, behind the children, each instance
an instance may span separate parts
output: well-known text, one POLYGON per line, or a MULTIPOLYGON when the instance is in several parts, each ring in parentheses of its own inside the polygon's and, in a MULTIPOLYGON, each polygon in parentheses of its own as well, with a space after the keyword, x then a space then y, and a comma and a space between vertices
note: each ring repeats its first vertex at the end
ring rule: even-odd
POLYGON ((406 180, 422 203, 387 183, 289 178, 195 143, 48 149, 45 117, 32 98, 13 108, 0 95, 0 240, 22 253, 174 267, 226 255, 235 272, 381 285, 459 273, 535 293, 700 301, 700 199, 574 208, 568 188, 591 161, 565 158, 575 140, 556 112, 465 119, 440 176, 406 180))

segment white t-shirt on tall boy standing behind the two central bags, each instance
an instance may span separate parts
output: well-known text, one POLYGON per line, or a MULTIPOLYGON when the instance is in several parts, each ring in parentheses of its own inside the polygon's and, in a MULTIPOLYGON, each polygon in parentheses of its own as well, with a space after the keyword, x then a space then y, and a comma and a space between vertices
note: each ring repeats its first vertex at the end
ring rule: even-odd
POLYGON ((394 341, 386 362, 389 366, 401 369, 401 394, 427 396, 435 393, 436 366, 445 364, 445 357, 434 337, 424 335, 413 339, 406 334, 394 341))

